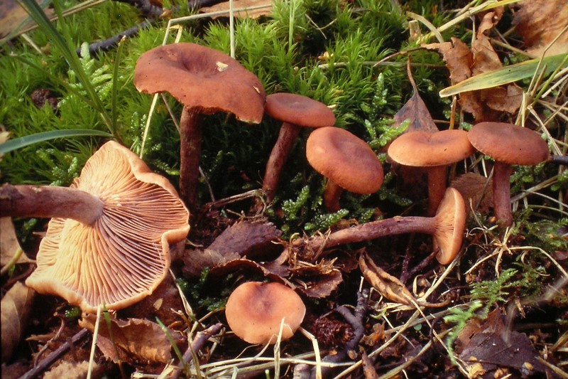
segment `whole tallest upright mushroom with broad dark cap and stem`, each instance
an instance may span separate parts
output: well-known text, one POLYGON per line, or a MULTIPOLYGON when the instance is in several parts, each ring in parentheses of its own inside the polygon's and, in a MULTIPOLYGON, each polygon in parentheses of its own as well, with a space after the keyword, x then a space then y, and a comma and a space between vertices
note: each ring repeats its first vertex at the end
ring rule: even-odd
POLYGON ((229 112, 243 122, 261 122, 266 94, 256 75, 229 55, 195 43, 158 46, 136 61, 140 92, 169 92, 184 107, 180 117, 180 195, 197 208, 202 115, 229 112))

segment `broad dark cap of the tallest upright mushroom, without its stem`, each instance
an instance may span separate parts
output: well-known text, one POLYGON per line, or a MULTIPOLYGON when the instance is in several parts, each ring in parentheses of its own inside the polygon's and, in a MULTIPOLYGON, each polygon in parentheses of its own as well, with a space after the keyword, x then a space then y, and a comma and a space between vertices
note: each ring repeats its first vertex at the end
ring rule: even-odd
POLYGON ((256 75, 229 55, 195 43, 143 53, 134 68, 134 85, 140 92, 169 92, 204 114, 230 112, 258 124, 264 112, 266 93, 256 75))

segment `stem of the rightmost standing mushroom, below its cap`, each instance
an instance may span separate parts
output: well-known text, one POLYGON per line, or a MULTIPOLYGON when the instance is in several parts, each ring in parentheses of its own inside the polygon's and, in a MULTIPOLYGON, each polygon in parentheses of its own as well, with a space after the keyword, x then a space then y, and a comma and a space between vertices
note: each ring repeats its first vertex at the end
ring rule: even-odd
POLYGON ((503 226, 513 225, 513 213, 510 210, 510 164, 495 161, 493 165, 493 212, 498 223, 503 226))

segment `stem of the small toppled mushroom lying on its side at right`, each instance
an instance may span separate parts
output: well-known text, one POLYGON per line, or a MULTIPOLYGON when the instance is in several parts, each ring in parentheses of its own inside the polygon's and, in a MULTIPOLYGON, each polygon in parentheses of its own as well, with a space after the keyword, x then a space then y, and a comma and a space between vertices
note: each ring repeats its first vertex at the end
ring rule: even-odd
POLYGON ((346 243, 363 242, 374 240, 385 235, 405 234, 405 233, 427 233, 433 234, 437 228, 437 219, 435 217, 394 217, 384 220, 372 221, 356 225, 351 228, 338 230, 327 236, 316 235, 310 240, 297 240, 295 245, 305 244, 312 250, 319 250, 322 246, 325 248, 343 245, 346 243))

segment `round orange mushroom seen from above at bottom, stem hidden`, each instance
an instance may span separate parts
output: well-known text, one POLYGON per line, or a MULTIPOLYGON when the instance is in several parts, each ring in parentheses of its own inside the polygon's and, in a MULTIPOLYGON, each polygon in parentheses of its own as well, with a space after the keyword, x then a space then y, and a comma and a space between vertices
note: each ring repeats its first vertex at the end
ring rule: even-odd
POLYGON ((246 282, 226 301, 226 322, 248 343, 275 343, 280 325, 282 341, 302 324, 306 307, 293 289, 280 283, 246 282))

